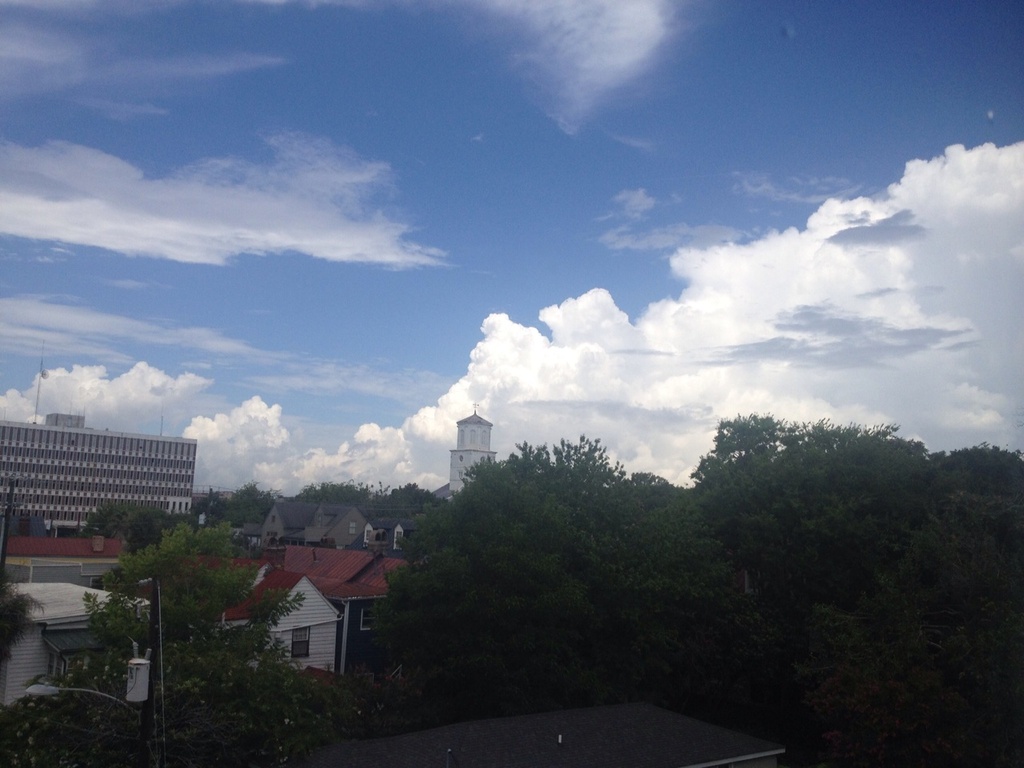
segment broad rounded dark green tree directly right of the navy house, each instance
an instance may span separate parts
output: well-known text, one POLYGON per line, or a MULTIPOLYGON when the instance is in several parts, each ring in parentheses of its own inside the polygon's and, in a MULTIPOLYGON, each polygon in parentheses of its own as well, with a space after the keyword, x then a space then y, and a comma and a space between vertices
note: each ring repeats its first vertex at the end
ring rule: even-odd
POLYGON ((599 441, 518 449, 473 468, 390 580, 378 627, 431 712, 707 693, 736 593, 705 527, 648 511, 654 483, 631 483, 599 441))

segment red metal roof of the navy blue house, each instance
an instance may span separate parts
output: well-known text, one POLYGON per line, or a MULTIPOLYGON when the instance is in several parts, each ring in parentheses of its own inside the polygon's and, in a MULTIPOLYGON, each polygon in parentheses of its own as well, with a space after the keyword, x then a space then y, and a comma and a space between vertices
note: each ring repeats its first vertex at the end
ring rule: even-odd
POLYGON ((387 594, 387 574, 406 564, 404 560, 375 556, 365 550, 292 546, 282 549, 284 569, 307 577, 329 599, 383 597, 387 594))

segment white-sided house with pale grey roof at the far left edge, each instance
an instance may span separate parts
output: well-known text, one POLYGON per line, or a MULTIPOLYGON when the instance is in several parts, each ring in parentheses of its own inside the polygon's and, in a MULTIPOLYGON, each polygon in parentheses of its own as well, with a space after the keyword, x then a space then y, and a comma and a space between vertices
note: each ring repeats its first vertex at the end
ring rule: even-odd
POLYGON ((4 705, 24 696, 33 678, 59 677, 75 653, 98 649, 89 632, 85 596, 104 600, 110 594, 78 584, 18 584, 16 589, 36 605, 32 628, 11 648, 10 658, 0 665, 0 703, 4 705))

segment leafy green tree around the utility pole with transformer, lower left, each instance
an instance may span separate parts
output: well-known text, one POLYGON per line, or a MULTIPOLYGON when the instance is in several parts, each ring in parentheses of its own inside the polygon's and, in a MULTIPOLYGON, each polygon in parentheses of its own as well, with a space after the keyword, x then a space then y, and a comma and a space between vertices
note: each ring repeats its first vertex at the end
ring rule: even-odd
MULTIPOLYGON (((354 698, 304 674, 272 641, 269 628, 297 603, 267 593, 250 621, 227 627, 226 608, 249 597, 254 566, 230 555, 226 525, 182 525, 159 545, 124 555, 109 577, 109 598, 90 606, 106 650, 75 664, 62 685, 124 697, 131 639, 145 647, 151 578, 162 586, 162 657, 154 675, 160 749, 168 766, 276 765, 345 735, 354 698)), ((66 693, 20 700, 0 712, 0 764, 134 764, 138 718, 122 705, 66 693)))

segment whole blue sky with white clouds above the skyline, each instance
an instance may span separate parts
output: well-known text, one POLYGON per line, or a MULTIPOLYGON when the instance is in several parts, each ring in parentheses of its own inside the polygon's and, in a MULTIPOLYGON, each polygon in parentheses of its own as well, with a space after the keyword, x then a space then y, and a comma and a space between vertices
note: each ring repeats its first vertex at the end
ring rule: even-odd
POLYGON ((474 410, 677 484, 749 414, 1024 449, 1021 40, 984 0, 0 0, 0 417, 285 494, 438 487, 474 410))

